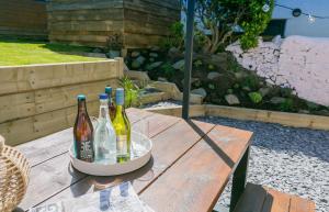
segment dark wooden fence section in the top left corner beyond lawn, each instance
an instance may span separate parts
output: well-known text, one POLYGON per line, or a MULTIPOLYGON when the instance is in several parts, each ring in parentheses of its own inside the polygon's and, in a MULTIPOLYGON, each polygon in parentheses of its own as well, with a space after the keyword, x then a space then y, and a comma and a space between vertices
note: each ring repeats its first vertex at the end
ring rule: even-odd
POLYGON ((47 37, 46 3, 35 0, 0 0, 0 34, 47 37))

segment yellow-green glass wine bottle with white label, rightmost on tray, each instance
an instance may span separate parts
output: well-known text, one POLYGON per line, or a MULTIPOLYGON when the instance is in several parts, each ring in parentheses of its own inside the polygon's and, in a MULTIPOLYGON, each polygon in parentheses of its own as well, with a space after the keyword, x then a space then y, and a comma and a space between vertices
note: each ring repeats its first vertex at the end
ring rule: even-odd
POLYGON ((116 112, 113 121, 116 134, 116 159, 124 163, 131 159, 131 125, 124 108, 124 89, 117 88, 115 93, 116 112))

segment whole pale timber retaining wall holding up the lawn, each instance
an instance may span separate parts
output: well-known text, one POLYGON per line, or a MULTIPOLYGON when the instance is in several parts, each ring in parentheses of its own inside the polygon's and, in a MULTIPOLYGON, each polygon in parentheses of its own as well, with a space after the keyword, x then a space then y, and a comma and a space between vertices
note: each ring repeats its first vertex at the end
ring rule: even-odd
POLYGON ((90 115, 99 110, 98 94, 116 87, 123 59, 0 67, 0 134, 18 145, 72 126, 79 93, 90 115))

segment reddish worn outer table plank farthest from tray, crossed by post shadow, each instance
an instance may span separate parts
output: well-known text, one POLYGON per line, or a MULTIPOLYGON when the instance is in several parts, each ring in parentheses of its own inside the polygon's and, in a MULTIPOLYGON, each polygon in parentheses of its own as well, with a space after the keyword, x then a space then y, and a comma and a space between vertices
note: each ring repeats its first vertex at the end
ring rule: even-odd
POLYGON ((217 125, 141 192, 141 200, 158 212, 212 211, 251 136, 217 125))

